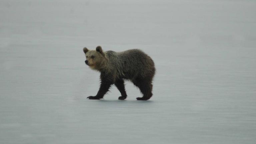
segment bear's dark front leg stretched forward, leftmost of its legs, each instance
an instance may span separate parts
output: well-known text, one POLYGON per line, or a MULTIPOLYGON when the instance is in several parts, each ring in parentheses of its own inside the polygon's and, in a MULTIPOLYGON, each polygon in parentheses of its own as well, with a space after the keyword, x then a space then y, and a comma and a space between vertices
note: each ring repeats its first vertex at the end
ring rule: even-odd
POLYGON ((110 86, 112 85, 111 82, 108 81, 101 81, 100 89, 96 96, 89 96, 88 99, 102 99, 103 96, 108 92, 110 86))

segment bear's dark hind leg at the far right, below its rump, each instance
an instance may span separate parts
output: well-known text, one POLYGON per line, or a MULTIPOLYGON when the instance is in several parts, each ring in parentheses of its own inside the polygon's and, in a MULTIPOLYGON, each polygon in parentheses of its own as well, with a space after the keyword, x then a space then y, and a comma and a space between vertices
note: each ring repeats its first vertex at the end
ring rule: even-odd
POLYGON ((152 97, 152 81, 137 79, 133 81, 133 83, 140 89, 141 93, 143 94, 143 97, 137 97, 137 100, 148 100, 152 97))

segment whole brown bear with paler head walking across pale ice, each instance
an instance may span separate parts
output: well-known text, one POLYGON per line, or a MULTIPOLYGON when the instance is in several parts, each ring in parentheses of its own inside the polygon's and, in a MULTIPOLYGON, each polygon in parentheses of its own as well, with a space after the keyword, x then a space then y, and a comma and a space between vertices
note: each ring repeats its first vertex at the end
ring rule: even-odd
POLYGON ((109 91, 111 85, 115 85, 120 91, 118 98, 124 100, 127 97, 124 80, 131 81, 143 94, 137 100, 148 100, 152 97, 152 80, 155 75, 153 60, 139 49, 131 49, 123 52, 103 51, 101 46, 96 50, 83 48, 86 56, 85 63, 93 70, 99 71, 101 84, 96 96, 89 99, 102 99, 109 91))

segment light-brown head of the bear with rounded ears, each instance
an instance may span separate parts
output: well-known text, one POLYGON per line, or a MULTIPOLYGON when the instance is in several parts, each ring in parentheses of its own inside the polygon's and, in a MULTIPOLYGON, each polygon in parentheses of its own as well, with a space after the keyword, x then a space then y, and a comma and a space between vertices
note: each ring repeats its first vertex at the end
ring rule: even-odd
POLYGON ((104 66, 105 54, 101 46, 97 46, 96 50, 83 49, 86 57, 85 63, 93 70, 100 70, 104 66))

